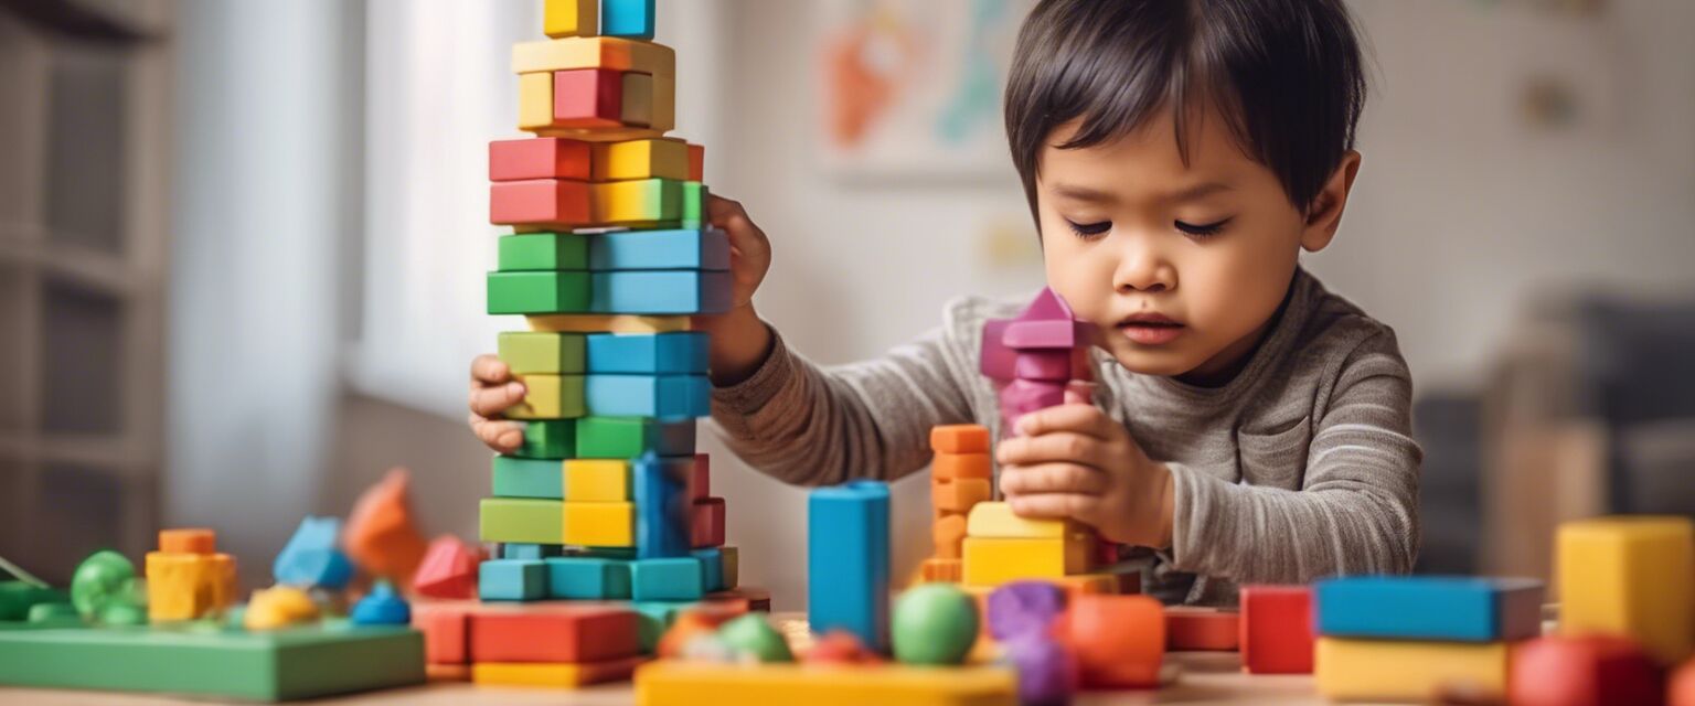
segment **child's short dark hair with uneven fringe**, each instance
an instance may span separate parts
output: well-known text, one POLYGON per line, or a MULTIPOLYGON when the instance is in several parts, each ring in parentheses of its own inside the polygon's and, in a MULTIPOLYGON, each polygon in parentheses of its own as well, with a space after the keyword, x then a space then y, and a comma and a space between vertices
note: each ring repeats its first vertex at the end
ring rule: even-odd
POLYGON ((1007 78, 1007 142, 1036 210, 1042 147, 1136 130, 1164 107, 1188 156, 1186 120, 1217 107, 1242 152, 1307 210, 1354 146, 1366 100, 1342 0, 1042 0, 1024 20, 1007 78))

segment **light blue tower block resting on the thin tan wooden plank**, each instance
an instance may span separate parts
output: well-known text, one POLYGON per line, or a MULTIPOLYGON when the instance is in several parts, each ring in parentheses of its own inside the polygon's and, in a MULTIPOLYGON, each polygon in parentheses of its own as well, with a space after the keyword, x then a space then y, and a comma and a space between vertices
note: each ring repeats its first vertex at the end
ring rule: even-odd
POLYGON ((724 313, 729 308, 731 273, 642 269, 590 278, 590 313, 724 313))

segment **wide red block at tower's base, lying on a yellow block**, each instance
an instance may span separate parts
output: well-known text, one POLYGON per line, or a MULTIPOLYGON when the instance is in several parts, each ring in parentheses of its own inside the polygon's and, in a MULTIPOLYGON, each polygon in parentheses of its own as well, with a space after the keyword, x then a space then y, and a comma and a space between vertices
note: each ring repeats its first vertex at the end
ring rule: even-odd
POLYGON ((639 650, 636 611, 602 606, 471 615, 471 662, 598 662, 639 650))

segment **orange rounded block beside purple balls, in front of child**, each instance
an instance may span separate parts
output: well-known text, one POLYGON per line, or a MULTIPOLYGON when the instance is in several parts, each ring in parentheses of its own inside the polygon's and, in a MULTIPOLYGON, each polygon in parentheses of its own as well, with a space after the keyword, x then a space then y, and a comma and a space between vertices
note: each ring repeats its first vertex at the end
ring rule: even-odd
POLYGON ((1164 609, 1148 596, 1078 596, 1066 611, 1070 645, 1085 687, 1159 686, 1164 609))

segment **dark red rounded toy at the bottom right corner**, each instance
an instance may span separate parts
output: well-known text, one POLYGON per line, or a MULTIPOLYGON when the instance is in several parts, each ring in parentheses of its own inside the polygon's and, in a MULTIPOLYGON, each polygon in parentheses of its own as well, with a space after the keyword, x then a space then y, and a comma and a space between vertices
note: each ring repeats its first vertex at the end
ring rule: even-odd
POLYGON ((1659 667, 1634 642, 1610 635, 1542 637, 1512 652, 1514 706, 1659 706, 1659 667))

